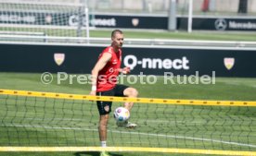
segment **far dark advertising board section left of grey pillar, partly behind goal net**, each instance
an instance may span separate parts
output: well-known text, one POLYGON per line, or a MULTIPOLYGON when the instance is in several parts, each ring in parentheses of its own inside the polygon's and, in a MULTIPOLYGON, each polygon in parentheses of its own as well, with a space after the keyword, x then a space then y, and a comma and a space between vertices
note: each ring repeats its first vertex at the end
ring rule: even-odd
MULTIPOLYGON (((85 15, 81 15, 82 25, 86 26, 85 15)), ((28 24, 44 26, 79 25, 78 13, 47 13, 47 12, 17 12, 1 11, 0 23, 2 24, 28 24)), ((90 15, 89 24, 96 28, 122 28, 122 29, 156 29, 167 30, 166 17, 152 16, 122 16, 122 15, 90 15)))

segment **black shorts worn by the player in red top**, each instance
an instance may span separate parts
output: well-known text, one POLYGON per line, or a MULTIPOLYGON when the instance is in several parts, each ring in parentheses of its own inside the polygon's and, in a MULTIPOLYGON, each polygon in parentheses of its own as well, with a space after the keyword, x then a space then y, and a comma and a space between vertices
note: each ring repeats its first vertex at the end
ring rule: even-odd
MULTIPOLYGON (((112 90, 96 92, 98 96, 121 96, 123 97, 123 90, 127 89, 128 86, 116 85, 112 90)), ((111 112, 112 102, 101 102, 97 101, 97 110, 100 115, 109 114, 111 112)))

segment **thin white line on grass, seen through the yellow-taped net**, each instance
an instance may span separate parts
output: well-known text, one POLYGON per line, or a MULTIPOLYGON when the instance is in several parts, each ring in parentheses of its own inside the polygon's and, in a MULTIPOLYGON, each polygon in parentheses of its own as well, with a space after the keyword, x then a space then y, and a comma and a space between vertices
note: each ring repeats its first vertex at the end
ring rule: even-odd
MULTIPOLYGON (((80 127, 30 126, 30 125, 16 125, 16 124, 13 124, 13 125, 1 124, 0 126, 17 126, 17 127, 36 127, 36 128, 45 128, 45 129, 97 131, 97 129, 86 129, 86 128, 80 128, 80 127)), ((238 142, 231 142, 231 141, 224 141, 224 140, 218 140, 218 139, 211 139, 211 138, 194 138, 194 137, 185 137, 185 136, 162 135, 162 134, 130 132, 130 131, 127 132, 127 131, 117 131, 117 130, 108 130, 108 131, 113 132, 113 133, 133 134, 133 135, 142 135, 142 136, 153 136, 153 137, 162 137, 162 138, 181 138, 181 139, 183 138, 183 139, 209 141, 209 142, 216 142, 216 143, 222 143, 222 144, 229 144, 229 145, 237 145, 237 146, 256 148, 256 145, 244 144, 244 143, 238 143, 238 142)))

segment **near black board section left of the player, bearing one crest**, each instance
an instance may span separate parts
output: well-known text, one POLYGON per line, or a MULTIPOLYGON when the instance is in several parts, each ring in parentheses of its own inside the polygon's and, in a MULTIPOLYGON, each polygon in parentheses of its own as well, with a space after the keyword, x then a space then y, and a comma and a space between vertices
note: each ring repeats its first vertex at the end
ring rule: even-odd
POLYGON ((0 71, 90 73, 102 48, 0 44, 0 71))

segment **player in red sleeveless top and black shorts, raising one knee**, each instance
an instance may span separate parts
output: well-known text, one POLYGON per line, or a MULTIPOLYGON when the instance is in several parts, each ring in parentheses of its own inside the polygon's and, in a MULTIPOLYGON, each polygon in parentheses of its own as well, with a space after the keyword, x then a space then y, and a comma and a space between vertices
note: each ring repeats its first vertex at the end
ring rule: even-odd
MULTIPOLYGON (((91 95, 98 96, 126 96, 137 97, 138 92, 134 88, 117 84, 119 73, 128 74, 129 67, 121 68, 122 61, 122 30, 113 30, 111 33, 111 45, 103 50, 99 55, 96 66, 92 70, 92 90, 91 95)), ((98 133, 101 142, 101 147, 107 147, 107 126, 109 121, 109 113, 111 112, 112 102, 97 101, 97 109, 100 114, 98 133)), ((131 111, 134 103, 125 102, 124 107, 131 111)), ((118 125, 118 124, 117 124, 118 125)), ((131 122, 126 122, 124 127, 135 127, 131 122)), ((102 151, 100 156, 109 156, 105 151, 102 151)))

